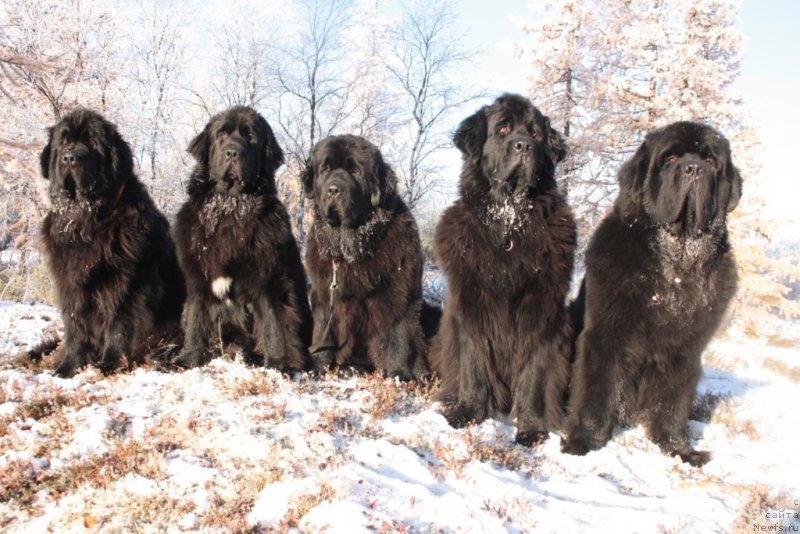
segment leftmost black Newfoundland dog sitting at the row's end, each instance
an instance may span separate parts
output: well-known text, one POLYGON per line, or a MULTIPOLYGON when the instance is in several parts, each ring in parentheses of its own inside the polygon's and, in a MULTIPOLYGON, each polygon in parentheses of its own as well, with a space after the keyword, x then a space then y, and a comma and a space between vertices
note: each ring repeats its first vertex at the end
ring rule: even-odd
POLYGON ((177 324, 183 277, 164 216, 133 172, 131 149, 99 114, 77 109, 50 128, 42 234, 64 322, 56 374, 95 364, 110 373, 177 324))

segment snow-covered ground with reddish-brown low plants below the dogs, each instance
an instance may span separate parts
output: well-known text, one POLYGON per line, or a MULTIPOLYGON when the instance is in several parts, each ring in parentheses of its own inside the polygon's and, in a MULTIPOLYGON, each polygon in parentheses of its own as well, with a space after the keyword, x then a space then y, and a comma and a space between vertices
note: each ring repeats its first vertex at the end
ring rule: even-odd
POLYGON ((0 303, 0 530, 798 532, 797 324, 707 349, 693 468, 641 429, 585 457, 451 428, 435 386, 222 358, 64 380, 14 357, 57 330, 0 303), (762 529, 763 527, 763 529, 762 529))

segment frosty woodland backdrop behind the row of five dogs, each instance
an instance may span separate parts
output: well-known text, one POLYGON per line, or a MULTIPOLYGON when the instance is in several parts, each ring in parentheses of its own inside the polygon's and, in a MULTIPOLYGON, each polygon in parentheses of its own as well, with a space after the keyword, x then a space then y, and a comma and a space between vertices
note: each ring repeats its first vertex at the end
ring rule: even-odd
MULTIPOLYGON (((479 65, 481 28, 464 3, 436 0, 5 0, 0 7, 0 300, 52 302, 37 249, 48 209, 38 155, 46 128, 97 109, 131 144, 138 173, 169 216, 193 161, 185 148, 211 115, 245 104, 287 154, 282 199, 305 239, 299 170, 319 139, 363 135, 381 147, 414 210, 426 253, 452 201, 458 122, 495 96, 479 65)), ((616 194, 616 171, 645 132, 700 120, 732 142, 745 179, 732 240, 748 320, 800 315, 796 244, 759 198, 757 123, 735 94, 743 37, 736 0, 541 0, 486 6, 513 17, 509 54, 524 92, 569 141, 559 180, 581 243, 616 194)), ((509 87, 508 90, 519 91, 509 87)), ((582 272, 580 258, 576 272, 582 272)))

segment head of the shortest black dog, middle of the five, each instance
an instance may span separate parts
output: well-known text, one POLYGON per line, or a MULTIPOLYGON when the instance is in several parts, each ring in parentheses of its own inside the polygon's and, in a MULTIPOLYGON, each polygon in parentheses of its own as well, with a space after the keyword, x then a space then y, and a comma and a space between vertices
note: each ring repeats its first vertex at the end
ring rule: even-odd
POLYGON ((397 177, 380 150, 362 137, 337 135, 316 144, 303 171, 306 196, 333 228, 356 228, 395 198, 397 177))

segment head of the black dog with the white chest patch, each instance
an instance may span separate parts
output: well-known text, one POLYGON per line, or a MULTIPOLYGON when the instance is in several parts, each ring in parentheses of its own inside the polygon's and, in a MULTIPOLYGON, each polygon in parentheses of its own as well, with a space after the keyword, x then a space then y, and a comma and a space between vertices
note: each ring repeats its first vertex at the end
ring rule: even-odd
POLYGON ((188 150, 197 160, 190 195, 275 192, 283 150, 267 121, 252 108, 236 106, 215 115, 188 150))

